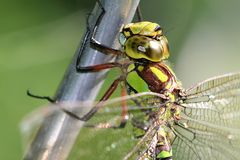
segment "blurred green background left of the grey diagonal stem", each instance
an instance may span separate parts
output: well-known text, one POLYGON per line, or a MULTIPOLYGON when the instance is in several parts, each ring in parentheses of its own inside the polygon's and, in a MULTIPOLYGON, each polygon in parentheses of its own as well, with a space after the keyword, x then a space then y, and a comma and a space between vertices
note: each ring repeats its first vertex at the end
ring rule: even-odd
POLYGON ((53 95, 83 31, 89 1, 0 2, 0 159, 23 155, 19 123, 45 101, 26 96, 30 89, 53 95))

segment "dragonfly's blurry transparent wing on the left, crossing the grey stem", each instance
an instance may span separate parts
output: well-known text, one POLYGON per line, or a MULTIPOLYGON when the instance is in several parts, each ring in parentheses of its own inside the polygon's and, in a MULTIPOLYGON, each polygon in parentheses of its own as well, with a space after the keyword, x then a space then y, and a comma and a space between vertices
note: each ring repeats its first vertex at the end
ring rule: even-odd
MULTIPOLYGON (((103 107, 85 123, 85 127, 81 128, 69 159, 123 159, 128 154, 131 154, 129 159, 135 159, 141 151, 144 152, 146 150, 148 143, 151 142, 151 135, 155 132, 153 130, 147 136, 143 135, 144 139, 143 137, 137 138, 135 136, 137 133, 134 131, 135 127, 131 121, 132 119, 137 119, 141 122, 146 115, 145 110, 159 107, 159 103, 158 105, 152 105, 153 100, 151 99, 156 99, 156 97, 159 99, 158 94, 155 93, 140 93, 115 98, 103 103, 103 107), (136 106, 131 100, 132 98, 138 99, 141 104, 145 105, 141 107, 136 106), (122 119, 122 100, 125 100, 128 104, 128 123, 123 128, 113 129, 109 126, 118 126, 122 119)), ((96 103, 93 102, 65 102, 42 107, 25 118, 21 125, 24 130, 23 134, 31 132, 32 128, 39 125, 45 116, 59 112, 60 108, 74 111, 81 117, 95 105, 96 103)))

